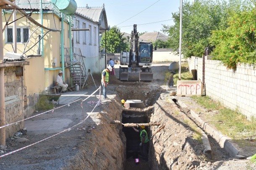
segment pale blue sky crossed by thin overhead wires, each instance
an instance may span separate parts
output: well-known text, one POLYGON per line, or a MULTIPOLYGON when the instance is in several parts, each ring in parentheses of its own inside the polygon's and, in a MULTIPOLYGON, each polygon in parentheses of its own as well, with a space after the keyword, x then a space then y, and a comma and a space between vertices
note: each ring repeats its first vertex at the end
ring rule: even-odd
MULTIPOLYGON (((138 32, 162 32, 162 24, 172 25, 172 13, 177 12, 180 7, 180 0, 75 0, 78 7, 89 7, 102 6, 105 5, 107 13, 108 25, 115 26, 119 23, 127 20, 128 18, 134 16, 133 18, 125 21, 118 25, 121 32, 131 33, 133 29, 133 24, 144 24, 146 25, 137 26, 138 32), (157 2, 158 1, 158 2, 157 2), (155 3, 155 4, 154 4, 155 3), (154 4, 154 5, 152 5, 154 4), (151 7, 149 7, 152 5, 151 7), (149 7, 149 8, 148 8, 149 7), (148 8, 148 9, 146 9, 148 8), (146 9, 146 10, 145 10, 146 9), (170 21, 165 21, 170 20, 170 21), (159 23, 154 23, 157 21, 164 21, 159 23), (129 26, 129 27, 122 27, 129 26)), ((193 2, 193 0, 188 0, 193 2)), ((183 0, 184 2, 184 0, 183 0)))

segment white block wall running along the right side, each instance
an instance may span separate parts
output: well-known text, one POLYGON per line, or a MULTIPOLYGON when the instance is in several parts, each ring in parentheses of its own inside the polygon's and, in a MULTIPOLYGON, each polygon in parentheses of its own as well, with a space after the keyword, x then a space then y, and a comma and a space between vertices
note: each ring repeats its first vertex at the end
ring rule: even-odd
POLYGON ((220 61, 206 58, 203 70, 203 59, 198 58, 195 64, 196 58, 189 59, 189 68, 197 69, 198 80, 203 80, 204 72, 206 95, 231 109, 238 109, 247 118, 256 117, 256 70, 253 67, 238 65, 236 72, 232 72, 220 61))

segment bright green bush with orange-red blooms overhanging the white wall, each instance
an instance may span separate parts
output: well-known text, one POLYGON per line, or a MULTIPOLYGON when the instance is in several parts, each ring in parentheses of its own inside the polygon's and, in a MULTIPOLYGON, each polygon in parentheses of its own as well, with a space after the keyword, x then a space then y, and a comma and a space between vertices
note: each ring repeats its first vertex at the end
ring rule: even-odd
POLYGON ((235 70, 241 63, 256 64, 256 8, 234 12, 228 27, 213 31, 212 55, 221 60, 227 69, 235 70))

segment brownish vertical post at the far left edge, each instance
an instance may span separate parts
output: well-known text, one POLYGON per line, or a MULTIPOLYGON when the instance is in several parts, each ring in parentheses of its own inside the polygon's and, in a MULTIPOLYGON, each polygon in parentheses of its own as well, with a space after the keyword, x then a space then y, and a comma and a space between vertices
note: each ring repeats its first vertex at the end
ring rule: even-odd
MULTIPOLYGON (((2 8, 0 7, 2 14, 2 8)), ((3 28, 3 18, 0 17, 0 28, 3 28)), ((3 61, 3 32, 0 31, 0 62, 3 61)), ((0 67, 0 127, 5 126, 5 78, 4 67, 0 67)), ((5 128, 0 129, 0 145, 5 146, 5 128)))

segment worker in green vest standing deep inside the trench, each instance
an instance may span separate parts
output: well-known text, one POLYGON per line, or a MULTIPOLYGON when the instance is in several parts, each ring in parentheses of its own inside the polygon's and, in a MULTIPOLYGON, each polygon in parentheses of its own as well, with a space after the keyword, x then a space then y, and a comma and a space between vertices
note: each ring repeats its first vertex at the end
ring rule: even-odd
POLYGON ((140 130, 138 130, 134 127, 133 127, 133 129, 134 129, 134 131, 140 133, 141 143, 139 144, 139 146, 140 146, 142 159, 148 161, 149 136, 145 130, 145 126, 140 126, 140 130))

